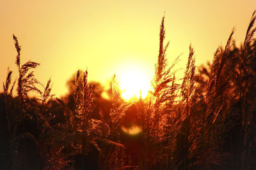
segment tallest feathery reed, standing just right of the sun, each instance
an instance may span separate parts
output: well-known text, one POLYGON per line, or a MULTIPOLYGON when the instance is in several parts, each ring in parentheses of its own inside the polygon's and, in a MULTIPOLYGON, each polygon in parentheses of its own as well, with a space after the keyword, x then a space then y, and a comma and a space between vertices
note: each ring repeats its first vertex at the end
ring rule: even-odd
POLYGON ((178 89, 178 85, 175 83, 175 73, 171 71, 179 57, 168 67, 166 50, 169 43, 164 46, 164 38, 163 17, 159 33, 159 55, 155 66, 154 80, 152 81, 152 96, 149 104, 143 103, 140 99, 137 106, 141 120, 141 138, 143 141, 143 150, 140 155, 142 162, 139 162, 139 169, 150 169, 155 166, 163 169, 166 167, 166 161, 169 161, 168 159, 166 160, 166 155, 168 155, 170 148, 165 145, 168 143, 170 136, 166 135, 166 128, 170 128, 170 126, 168 127, 170 125, 168 124, 168 119, 172 117, 172 106, 175 104, 178 89))

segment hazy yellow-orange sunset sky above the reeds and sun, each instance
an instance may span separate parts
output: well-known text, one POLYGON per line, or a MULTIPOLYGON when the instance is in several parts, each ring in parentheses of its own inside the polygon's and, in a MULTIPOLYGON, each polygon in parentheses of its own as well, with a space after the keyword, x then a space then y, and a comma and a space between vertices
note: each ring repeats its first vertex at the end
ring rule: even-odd
MULTIPOLYGON (((108 82, 124 69, 154 74, 159 49, 159 25, 165 11, 169 62, 180 55, 184 67, 189 44, 196 65, 212 60, 225 45, 232 27, 237 45, 244 39, 255 0, 0 0, 0 82, 7 67, 17 73, 12 34, 22 46, 21 62, 39 62, 36 78, 51 77, 56 96, 67 93, 66 81, 88 67, 89 80, 108 82)), ((14 77, 17 74, 13 75, 14 77)), ((14 78, 13 78, 14 79, 14 78)))

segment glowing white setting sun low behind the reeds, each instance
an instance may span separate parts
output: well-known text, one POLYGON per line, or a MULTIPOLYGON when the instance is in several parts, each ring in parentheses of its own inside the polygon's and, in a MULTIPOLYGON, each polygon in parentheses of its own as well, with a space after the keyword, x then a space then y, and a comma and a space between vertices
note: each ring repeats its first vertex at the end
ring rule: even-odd
POLYGON ((122 98, 129 100, 132 97, 144 99, 150 90, 150 78, 147 73, 138 68, 123 69, 118 76, 122 98))

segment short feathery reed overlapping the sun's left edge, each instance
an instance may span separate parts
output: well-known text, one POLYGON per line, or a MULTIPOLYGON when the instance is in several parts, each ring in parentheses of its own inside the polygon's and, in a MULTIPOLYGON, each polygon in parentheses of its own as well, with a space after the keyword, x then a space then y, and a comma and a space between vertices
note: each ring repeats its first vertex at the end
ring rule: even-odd
POLYGON ((109 112, 109 118, 106 120, 106 124, 109 126, 109 135, 108 140, 105 140, 100 146, 102 152, 99 157, 99 168, 125 169, 129 167, 129 160, 125 155, 124 146, 120 144, 119 129, 129 104, 124 103, 121 99, 121 90, 115 75, 111 81, 111 94, 113 106, 109 112))

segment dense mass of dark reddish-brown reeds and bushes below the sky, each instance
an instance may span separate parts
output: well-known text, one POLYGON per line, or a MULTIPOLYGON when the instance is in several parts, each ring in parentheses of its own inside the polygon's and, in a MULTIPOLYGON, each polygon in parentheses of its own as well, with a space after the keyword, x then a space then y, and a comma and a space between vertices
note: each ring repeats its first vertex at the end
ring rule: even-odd
POLYGON ((241 46, 232 30, 198 72, 190 45, 177 83, 179 59, 168 65, 163 17, 153 90, 132 102, 120 97, 115 76, 103 99, 88 71, 77 71, 68 96, 54 98, 51 79, 44 86, 33 74, 39 64, 21 64, 13 35, 19 76, 12 81, 8 69, 0 96, 0 169, 256 169, 255 20, 254 12, 241 46), (32 91, 37 98, 28 96, 32 91), (120 130, 132 124, 142 131, 120 130))

